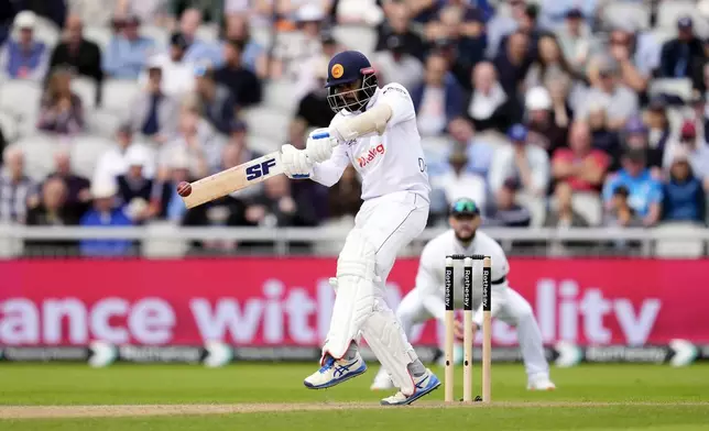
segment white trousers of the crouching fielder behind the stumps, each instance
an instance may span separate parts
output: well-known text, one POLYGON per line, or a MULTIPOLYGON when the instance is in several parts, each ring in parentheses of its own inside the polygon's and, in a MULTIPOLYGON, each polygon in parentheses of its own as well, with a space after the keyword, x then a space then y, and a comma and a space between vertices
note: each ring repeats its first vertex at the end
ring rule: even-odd
MULTIPOLYGON (((506 285, 506 283, 505 283, 506 285)), ((462 302, 456 299, 456 309, 462 308, 462 302)), ((462 298, 460 298, 462 299, 462 298)), ((411 336, 414 325, 433 318, 424 307, 425 298, 418 289, 410 291, 402 299, 396 309, 396 317, 402 324, 406 336, 411 336)), ((491 288, 492 314, 501 321, 517 329, 517 343, 522 351, 524 367, 527 376, 538 374, 548 375, 549 365, 544 355, 542 332, 532 312, 532 306, 524 297, 506 286, 492 286, 491 288)), ((473 296, 473 307, 479 307, 480 297, 473 296), (478 303, 476 303, 478 302, 478 303)), ((480 325, 482 316, 476 313, 475 322, 480 325)))

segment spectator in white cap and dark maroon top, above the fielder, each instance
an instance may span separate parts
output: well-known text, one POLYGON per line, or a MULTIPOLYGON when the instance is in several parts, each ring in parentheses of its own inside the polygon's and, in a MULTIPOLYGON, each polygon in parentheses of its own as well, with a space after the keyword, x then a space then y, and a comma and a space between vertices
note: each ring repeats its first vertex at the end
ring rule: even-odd
POLYGON ((566 145, 568 129, 557 124, 549 92, 544 87, 531 88, 524 97, 524 107, 530 144, 544 148, 552 157, 558 147, 566 145))

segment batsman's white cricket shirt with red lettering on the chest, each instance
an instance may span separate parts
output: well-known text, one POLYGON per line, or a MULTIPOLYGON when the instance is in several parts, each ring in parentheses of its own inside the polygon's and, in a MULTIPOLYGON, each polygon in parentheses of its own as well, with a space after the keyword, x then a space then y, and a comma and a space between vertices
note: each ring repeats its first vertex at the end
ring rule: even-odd
MULTIPOLYGON (((338 145, 328 161, 314 166, 312 179, 330 187, 351 163, 362 177, 362 200, 412 191, 429 201, 428 173, 408 91, 400 84, 389 84, 377 89, 367 108, 378 103, 388 103, 392 109, 384 133, 381 136, 371 133, 338 145)), ((358 114, 342 110, 330 125, 358 114)))

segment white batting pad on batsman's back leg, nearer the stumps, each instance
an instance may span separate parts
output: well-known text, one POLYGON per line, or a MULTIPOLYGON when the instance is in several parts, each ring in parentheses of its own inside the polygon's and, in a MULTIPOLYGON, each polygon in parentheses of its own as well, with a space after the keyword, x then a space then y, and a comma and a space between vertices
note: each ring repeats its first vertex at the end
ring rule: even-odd
POLYGON ((414 380, 408 364, 416 361, 416 352, 406 339, 396 316, 383 299, 374 301, 374 312, 362 327, 367 344, 386 369, 394 385, 406 396, 414 394, 414 380))

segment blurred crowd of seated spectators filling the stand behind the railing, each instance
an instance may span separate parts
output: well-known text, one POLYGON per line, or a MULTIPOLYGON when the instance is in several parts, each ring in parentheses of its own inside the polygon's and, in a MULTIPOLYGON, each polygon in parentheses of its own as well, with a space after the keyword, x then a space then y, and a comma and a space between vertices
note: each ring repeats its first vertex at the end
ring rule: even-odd
POLYGON ((350 223, 352 167, 189 211, 175 185, 303 147, 357 48, 411 92, 430 224, 460 196, 488 225, 705 224, 707 36, 703 0, 0 0, 0 222, 350 223))

